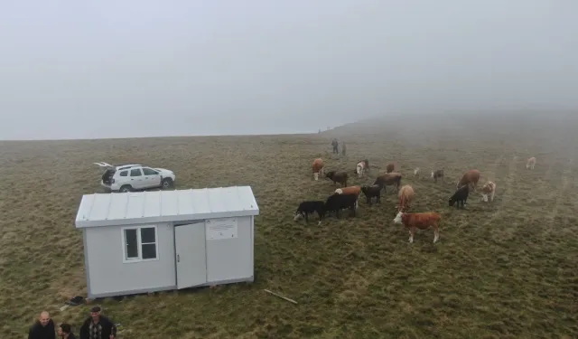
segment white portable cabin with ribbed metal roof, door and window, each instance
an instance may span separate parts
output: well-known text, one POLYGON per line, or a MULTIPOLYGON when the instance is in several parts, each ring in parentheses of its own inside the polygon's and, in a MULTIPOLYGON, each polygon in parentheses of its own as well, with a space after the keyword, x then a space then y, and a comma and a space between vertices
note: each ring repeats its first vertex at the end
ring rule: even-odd
POLYGON ((253 281, 250 186, 85 194, 89 298, 253 281))

